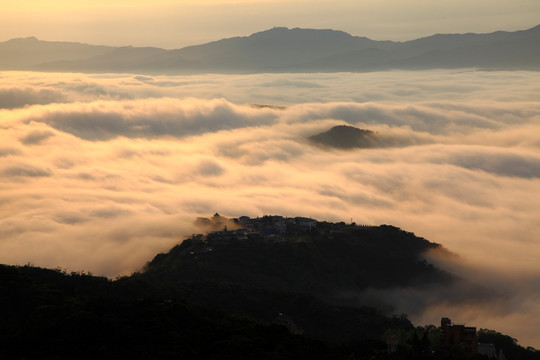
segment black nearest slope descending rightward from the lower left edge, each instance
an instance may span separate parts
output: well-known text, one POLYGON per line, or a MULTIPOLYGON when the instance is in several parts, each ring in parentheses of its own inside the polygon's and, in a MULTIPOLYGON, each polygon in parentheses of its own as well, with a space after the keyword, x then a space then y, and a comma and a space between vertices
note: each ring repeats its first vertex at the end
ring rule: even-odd
MULTIPOLYGON (((332 345, 88 274, 0 265, 2 359, 346 359, 332 345)), ((409 324, 410 326, 410 324, 409 324)))

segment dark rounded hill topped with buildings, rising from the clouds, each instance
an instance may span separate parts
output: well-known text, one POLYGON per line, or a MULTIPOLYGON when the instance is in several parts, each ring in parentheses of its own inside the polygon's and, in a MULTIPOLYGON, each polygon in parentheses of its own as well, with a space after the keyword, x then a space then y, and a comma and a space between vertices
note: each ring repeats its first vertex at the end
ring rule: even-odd
POLYGON ((210 220, 220 220, 224 231, 183 241, 168 254, 156 256, 140 276, 225 281, 248 287, 264 284, 265 289, 326 299, 352 288, 455 280, 423 261, 425 252, 440 245, 393 226, 265 216, 239 220, 240 228, 227 230, 227 224, 230 228, 234 222, 225 219, 216 214, 210 220))

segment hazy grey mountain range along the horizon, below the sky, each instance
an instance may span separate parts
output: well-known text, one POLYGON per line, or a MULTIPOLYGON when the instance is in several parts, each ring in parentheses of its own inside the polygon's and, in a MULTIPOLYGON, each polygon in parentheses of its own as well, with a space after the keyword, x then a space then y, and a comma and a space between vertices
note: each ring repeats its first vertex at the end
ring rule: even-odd
POLYGON ((176 50, 35 37, 0 43, 0 70, 145 74, 341 72, 391 69, 540 70, 540 25, 489 34, 375 41, 336 30, 276 27, 176 50))

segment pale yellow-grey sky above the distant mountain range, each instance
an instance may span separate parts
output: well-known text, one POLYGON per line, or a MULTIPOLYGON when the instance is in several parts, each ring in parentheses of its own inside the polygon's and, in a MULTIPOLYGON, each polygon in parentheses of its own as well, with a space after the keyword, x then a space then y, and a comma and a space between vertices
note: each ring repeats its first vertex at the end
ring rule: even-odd
POLYGON ((405 41, 538 25, 537 0, 0 0, 0 41, 181 48, 275 26, 405 41))

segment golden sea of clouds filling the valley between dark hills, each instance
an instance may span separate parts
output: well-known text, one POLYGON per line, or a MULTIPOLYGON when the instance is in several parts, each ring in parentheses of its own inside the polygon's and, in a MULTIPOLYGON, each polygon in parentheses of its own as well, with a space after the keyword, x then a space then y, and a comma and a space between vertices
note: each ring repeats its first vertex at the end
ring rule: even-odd
POLYGON ((392 224, 501 296, 370 296, 540 347, 539 94, 538 72, 2 72, 0 262, 129 274, 216 211, 392 224), (387 146, 307 139, 335 125, 387 146))

